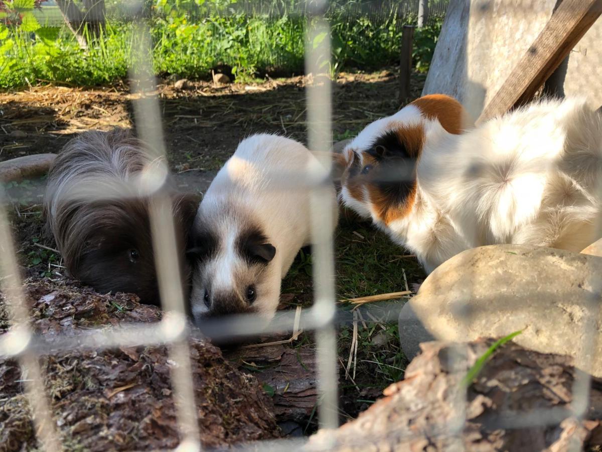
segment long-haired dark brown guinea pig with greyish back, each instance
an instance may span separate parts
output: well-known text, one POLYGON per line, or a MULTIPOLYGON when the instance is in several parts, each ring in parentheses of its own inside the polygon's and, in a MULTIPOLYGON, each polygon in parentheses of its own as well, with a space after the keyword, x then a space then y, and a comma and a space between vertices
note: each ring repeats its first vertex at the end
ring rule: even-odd
MULTIPOLYGON (((149 219, 152 198, 136 182, 153 163, 129 131, 87 131, 57 155, 44 200, 46 225, 67 273, 98 292, 136 293, 147 304, 160 302, 149 219)), ((185 249, 200 199, 178 192, 169 180, 160 190, 172 200, 188 293, 185 249)))

